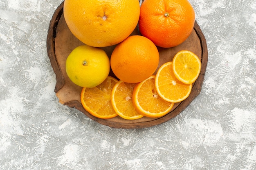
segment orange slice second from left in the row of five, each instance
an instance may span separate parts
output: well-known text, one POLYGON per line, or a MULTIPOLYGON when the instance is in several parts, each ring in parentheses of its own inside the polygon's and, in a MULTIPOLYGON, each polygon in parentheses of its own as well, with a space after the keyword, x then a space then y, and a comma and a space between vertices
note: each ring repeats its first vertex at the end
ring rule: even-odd
POLYGON ((121 118, 135 120, 143 117, 132 104, 132 91, 135 85, 136 83, 119 80, 112 89, 112 107, 121 118))

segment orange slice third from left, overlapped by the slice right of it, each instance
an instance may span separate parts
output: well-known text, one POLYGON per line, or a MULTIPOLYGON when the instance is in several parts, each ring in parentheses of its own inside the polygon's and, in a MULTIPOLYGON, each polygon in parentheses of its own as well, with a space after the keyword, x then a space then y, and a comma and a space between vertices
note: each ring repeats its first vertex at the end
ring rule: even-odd
POLYGON ((174 103, 167 102, 157 94, 155 75, 150 76, 134 87, 132 102, 139 113, 150 118, 166 115, 174 105, 174 103))

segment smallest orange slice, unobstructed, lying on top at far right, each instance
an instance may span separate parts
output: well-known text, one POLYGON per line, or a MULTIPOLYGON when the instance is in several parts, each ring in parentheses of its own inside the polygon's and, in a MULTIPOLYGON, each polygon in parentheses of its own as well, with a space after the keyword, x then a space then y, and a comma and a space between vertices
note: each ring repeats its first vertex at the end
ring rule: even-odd
POLYGON ((182 83, 194 83, 200 71, 201 61, 193 52, 182 50, 174 56, 173 73, 182 83))

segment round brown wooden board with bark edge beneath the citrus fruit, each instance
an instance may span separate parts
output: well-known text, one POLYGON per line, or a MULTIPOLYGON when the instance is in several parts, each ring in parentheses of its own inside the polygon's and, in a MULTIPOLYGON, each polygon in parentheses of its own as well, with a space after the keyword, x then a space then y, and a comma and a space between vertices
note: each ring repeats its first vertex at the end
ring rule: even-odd
MULTIPOLYGON (((204 80, 204 74, 207 67, 208 51, 207 43, 200 29, 200 26, 198 26, 197 22, 195 22, 193 32, 191 33, 189 38, 186 39, 186 41, 184 41, 179 46, 173 48, 157 47, 160 54, 158 68, 163 63, 167 61, 172 61, 175 54, 180 50, 190 50, 201 59, 202 68, 200 75, 195 83, 193 83, 191 94, 188 98, 186 98, 186 100, 175 103, 170 113, 161 118, 147 118, 144 116, 143 118, 137 120, 125 120, 117 116, 112 119, 104 120, 92 116, 90 113, 85 111, 85 109, 83 109, 83 106, 81 105, 80 93, 82 87, 79 87, 72 83, 65 72, 65 61, 67 59, 67 56, 74 48, 83 45, 83 43, 76 39, 76 37, 72 35, 69 28, 67 27, 65 19, 63 17, 63 4, 64 1, 54 12, 52 20, 49 24, 49 30, 47 35, 47 52, 52 68, 56 74, 55 93, 59 99, 59 102, 61 102, 63 105, 78 109, 86 116, 96 122, 99 122, 100 124, 114 128, 135 129, 154 126, 166 122, 171 118, 174 118, 175 116, 180 114, 200 93, 204 80)), ((137 28, 135 28, 132 35, 138 35, 137 28)), ((108 57, 110 57, 114 48, 115 46, 109 46, 102 49, 105 50, 108 54, 108 57)), ((115 77, 111 70, 110 75, 115 77)))

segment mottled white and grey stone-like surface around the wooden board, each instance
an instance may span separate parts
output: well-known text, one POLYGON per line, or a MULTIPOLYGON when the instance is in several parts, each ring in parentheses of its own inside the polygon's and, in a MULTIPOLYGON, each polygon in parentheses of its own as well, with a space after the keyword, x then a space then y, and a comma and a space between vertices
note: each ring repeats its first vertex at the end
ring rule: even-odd
POLYGON ((256 0, 189 0, 208 45, 176 118, 113 129, 61 105, 46 37, 62 0, 0 0, 0 169, 255 170, 256 0))

